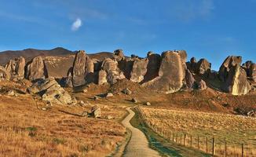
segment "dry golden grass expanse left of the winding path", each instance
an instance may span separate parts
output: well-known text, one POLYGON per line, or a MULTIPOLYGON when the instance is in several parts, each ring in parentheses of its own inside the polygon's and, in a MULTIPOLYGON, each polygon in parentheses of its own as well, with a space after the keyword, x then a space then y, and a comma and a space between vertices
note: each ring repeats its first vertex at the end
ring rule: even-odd
POLYGON ((30 95, 0 96, 0 156, 110 155, 125 141, 126 129, 119 119, 126 111, 112 105, 98 105, 102 117, 111 115, 115 119, 75 116, 90 111, 93 104, 53 105, 42 111, 45 104, 38 100, 36 105, 30 95))

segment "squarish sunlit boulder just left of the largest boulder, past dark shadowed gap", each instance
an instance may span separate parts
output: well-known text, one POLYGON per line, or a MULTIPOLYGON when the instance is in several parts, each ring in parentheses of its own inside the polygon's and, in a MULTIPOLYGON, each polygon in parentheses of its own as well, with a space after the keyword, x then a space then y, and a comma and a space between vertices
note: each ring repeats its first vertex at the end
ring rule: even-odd
POLYGON ((130 73, 130 80, 132 82, 141 82, 144 75, 147 73, 148 59, 137 59, 133 61, 133 68, 130 73))

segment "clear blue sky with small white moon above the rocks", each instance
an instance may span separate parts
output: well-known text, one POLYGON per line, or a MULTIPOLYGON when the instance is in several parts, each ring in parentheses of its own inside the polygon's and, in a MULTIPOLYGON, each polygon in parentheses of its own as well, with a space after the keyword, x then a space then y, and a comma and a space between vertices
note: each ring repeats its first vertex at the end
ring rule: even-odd
POLYGON ((0 0, 0 51, 185 49, 217 70, 229 55, 256 61, 255 8, 256 0, 0 0))

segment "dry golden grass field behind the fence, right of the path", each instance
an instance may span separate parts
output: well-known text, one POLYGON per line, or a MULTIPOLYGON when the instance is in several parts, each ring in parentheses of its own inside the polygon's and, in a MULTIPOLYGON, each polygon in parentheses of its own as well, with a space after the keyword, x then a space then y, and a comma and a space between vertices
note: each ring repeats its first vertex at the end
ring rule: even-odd
POLYGON ((226 140, 228 155, 241 155, 244 144, 244 156, 256 156, 256 119, 189 110, 140 107, 139 111, 148 126, 179 144, 184 144, 186 134, 186 144, 190 146, 192 135, 192 146, 198 148, 199 136, 199 149, 211 152, 214 137, 217 155, 224 155, 226 140))

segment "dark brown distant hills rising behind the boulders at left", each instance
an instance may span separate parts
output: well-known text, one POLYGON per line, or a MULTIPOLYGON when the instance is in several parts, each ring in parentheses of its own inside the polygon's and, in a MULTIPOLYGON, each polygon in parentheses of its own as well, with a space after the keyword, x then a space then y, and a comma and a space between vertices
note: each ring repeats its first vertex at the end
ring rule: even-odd
MULTIPOLYGON (((34 57, 42 56, 46 63, 49 75, 53 77, 64 77, 67 75, 68 69, 72 67, 75 59, 75 52, 68 49, 57 47, 55 49, 42 50, 42 49, 24 49, 17 51, 4 51, 0 52, 0 65, 5 65, 9 60, 16 57, 24 57, 26 62, 30 61, 34 57)), ((96 58, 97 60, 103 60, 106 57, 112 57, 112 53, 90 53, 90 58, 96 58)))

